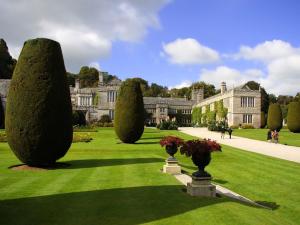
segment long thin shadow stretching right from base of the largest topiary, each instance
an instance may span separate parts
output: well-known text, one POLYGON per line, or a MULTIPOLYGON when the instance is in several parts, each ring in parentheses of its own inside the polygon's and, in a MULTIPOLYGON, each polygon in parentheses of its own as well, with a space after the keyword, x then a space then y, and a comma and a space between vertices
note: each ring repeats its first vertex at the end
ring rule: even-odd
POLYGON ((157 163, 163 162, 160 158, 129 158, 129 159, 82 159, 64 161, 63 163, 69 164, 69 167, 64 169, 82 169, 93 168, 102 166, 120 166, 129 164, 143 164, 143 163, 157 163))

